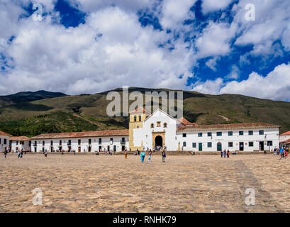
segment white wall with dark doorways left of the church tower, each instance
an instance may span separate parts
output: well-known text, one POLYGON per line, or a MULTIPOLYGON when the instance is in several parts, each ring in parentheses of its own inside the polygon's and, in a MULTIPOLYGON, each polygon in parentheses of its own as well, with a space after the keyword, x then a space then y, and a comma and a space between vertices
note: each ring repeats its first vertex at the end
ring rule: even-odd
POLYGON ((128 142, 128 135, 123 136, 106 136, 106 137, 91 137, 91 138, 57 138, 57 139, 38 139, 38 140, 32 140, 31 143, 31 150, 33 152, 42 152, 43 148, 44 150, 48 150, 48 152, 51 151, 51 148, 53 150, 59 150, 60 147, 60 140, 62 140, 62 150, 67 151, 68 145, 67 143, 69 140, 71 140, 71 150, 75 150, 78 152, 78 148, 80 147, 80 152, 89 152, 89 139, 91 139, 91 152, 99 151, 99 146, 101 146, 101 150, 104 151, 104 148, 106 150, 108 149, 108 146, 110 146, 110 150, 113 151, 113 146, 116 145, 116 151, 122 150, 122 145, 124 145, 127 149, 129 148, 129 142, 128 142), (99 144, 99 138, 101 138, 101 144, 99 144), (113 138, 113 143, 111 143, 110 138, 113 138), (122 138, 125 138, 126 143, 121 144, 122 138), (78 145, 78 140, 81 140, 81 145, 78 145), (35 147, 35 141, 37 146, 35 147), (45 141, 45 145, 43 146, 43 141, 45 141), (52 143, 52 146, 50 145, 52 143), (36 150, 35 150, 36 148, 36 150))

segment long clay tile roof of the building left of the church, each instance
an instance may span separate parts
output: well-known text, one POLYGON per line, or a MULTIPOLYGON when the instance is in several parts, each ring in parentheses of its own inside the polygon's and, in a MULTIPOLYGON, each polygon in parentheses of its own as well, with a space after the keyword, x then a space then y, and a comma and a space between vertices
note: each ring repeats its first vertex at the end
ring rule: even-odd
POLYGON ((101 136, 113 136, 113 135, 129 135, 128 129, 122 130, 107 130, 107 131, 89 131, 79 133, 47 133, 36 135, 30 140, 35 139, 52 139, 52 138, 81 138, 81 137, 101 137, 101 136))

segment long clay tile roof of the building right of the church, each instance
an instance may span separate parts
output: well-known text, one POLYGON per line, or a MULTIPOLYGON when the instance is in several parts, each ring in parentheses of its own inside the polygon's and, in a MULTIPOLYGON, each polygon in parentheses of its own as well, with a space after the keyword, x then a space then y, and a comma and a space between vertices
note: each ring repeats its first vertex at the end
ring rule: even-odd
POLYGON ((183 131, 185 129, 226 129, 226 128, 280 128, 281 126, 275 126, 269 123, 231 123, 221 125, 203 125, 203 126, 182 126, 177 128, 177 131, 183 131))

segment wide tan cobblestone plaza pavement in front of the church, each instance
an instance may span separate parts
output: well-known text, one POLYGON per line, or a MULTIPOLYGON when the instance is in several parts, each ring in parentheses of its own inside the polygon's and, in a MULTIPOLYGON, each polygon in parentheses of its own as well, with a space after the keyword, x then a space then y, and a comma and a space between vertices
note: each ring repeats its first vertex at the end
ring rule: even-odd
POLYGON ((0 155, 0 212, 289 212, 290 160, 274 155, 0 155), (33 205, 33 189, 43 205, 33 205), (247 188, 255 206, 247 206, 247 188))

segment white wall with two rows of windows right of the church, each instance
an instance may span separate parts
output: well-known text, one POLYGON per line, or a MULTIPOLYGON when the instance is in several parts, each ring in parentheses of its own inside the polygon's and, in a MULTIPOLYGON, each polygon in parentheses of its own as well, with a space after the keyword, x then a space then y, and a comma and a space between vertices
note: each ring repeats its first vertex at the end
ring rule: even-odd
POLYGON ((260 129, 238 129, 238 130, 209 130, 209 131, 177 131, 177 140, 180 142, 180 148, 183 142, 186 147, 183 150, 199 151, 199 143, 202 143, 203 151, 217 151, 217 144, 222 144, 222 150, 240 150, 240 142, 244 143, 244 151, 254 151, 260 149, 260 141, 264 143, 264 150, 272 150, 279 148, 279 128, 260 128, 260 129), (264 135, 259 135, 259 131, 263 130, 264 135), (233 131, 233 136, 228 135, 228 131, 233 131), (239 135, 239 131, 244 131, 244 135, 239 135), (248 131, 253 131, 253 135, 248 135, 248 131), (208 132, 212 133, 212 137, 208 137, 208 132), (217 136, 217 132, 222 132, 222 136, 217 136), (186 133, 186 138, 182 134, 186 133), (202 137, 198 133, 203 133, 202 137), (272 141, 272 147, 267 146, 267 141, 272 141), (208 142, 212 143, 212 147, 208 148, 208 142), (228 147, 228 142, 233 142, 233 148, 228 147), (254 142, 253 147, 249 147, 249 142, 254 142), (192 147, 192 143, 196 143, 196 148, 192 147))

